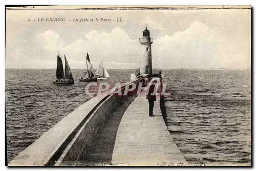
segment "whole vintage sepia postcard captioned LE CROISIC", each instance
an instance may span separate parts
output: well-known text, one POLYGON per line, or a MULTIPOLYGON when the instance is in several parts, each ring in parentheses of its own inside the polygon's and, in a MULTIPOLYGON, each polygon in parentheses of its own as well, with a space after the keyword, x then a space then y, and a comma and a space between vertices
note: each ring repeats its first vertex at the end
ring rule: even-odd
POLYGON ((250 6, 6 6, 6 165, 251 166, 250 6))

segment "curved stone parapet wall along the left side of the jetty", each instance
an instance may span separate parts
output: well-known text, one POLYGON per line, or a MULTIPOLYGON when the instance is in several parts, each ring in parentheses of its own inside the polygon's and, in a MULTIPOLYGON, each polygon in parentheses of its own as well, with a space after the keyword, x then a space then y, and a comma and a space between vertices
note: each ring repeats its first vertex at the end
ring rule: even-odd
MULTIPOLYGON (((138 86, 141 81, 136 79, 132 82, 138 86)), ((130 83, 122 86, 121 91, 130 83)), ((113 110, 125 102, 127 96, 117 94, 103 94, 83 103, 16 156, 8 166, 74 165, 86 156, 84 153, 89 151, 113 110)))

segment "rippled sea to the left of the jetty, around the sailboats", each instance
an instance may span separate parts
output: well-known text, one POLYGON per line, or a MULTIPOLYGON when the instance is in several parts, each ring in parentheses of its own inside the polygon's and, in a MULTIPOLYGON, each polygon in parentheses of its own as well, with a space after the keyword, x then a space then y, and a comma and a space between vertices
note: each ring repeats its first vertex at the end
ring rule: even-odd
MULTIPOLYGON (((72 86, 56 86, 55 70, 6 69, 6 132, 8 162, 54 124, 92 97, 86 82, 75 78, 72 86), (33 131, 32 131, 33 130, 33 131)), ((72 69, 73 75, 82 70, 72 69)), ((108 81, 129 81, 133 70, 110 70, 108 81)), ((95 89, 95 88, 94 88, 95 89)), ((95 89, 97 91, 97 89, 95 89)))

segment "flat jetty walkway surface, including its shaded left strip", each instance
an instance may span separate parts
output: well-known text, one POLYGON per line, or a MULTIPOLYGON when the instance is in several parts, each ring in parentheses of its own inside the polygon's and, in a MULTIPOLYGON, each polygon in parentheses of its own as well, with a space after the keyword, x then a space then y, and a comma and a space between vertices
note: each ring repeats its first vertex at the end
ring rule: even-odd
MULTIPOLYGON (((132 99, 133 100, 133 99, 132 99)), ((148 116, 148 102, 142 93, 130 105, 117 109, 98 134, 87 161, 92 165, 187 165, 167 130, 160 110, 148 116)), ((78 164, 78 163, 77 163, 78 164)))

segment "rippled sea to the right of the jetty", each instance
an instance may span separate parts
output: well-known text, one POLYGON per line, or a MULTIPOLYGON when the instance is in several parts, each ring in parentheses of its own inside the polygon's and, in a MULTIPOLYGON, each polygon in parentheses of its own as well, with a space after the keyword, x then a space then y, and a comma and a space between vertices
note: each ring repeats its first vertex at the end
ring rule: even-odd
POLYGON ((170 134, 189 163, 250 163, 251 92, 247 70, 169 70, 170 134))

